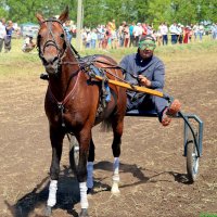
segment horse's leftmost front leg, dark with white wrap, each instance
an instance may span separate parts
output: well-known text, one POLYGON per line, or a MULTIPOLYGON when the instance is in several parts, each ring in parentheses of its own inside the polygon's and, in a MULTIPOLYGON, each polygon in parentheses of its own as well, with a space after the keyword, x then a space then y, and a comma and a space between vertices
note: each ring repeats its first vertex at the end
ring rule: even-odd
POLYGON ((50 216, 52 207, 56 204, 58 180, 60 175, 60 162, 62 156, 64 133, 61 129, 50 127, 50 140, 52 146, 52 159, 50 167, 50 186, 47 201, 46 216, 50 216))

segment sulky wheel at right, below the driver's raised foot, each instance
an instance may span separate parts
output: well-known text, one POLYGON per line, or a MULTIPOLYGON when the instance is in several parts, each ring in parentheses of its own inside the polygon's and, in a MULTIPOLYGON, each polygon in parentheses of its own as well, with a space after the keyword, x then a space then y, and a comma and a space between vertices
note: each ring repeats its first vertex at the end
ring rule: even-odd
POLYGON ((187 173, 189 181, 194 182, 199 174, 199 154, 192 136, 187 141, 187 173))

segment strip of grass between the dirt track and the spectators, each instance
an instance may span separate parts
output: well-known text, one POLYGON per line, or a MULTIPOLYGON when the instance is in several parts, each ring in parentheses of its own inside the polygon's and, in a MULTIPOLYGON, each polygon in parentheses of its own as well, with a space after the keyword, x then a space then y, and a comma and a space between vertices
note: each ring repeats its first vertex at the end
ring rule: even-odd
MULTIPOLYGON (((75 44, 75 39, 73 40, 75 44)), ((38 52, 35 49, 30 53, 24 53, 22 51, 23 39, 12 39, 12 50, 9 53, 3 51, 0 53, 0 78, 5 77, 28 77, 39 76, 42 73, 43 66, 38 58, 38 52)), ((137 52, 137 48, 119 48, 119 49, 84 49, 79 51, 81 56, 92 54, 105 54, 112 56, 119 62, 126 54, 137 52)), ((209 52, 217 53, 217 41, 210 40, 207 36, 203 42, 192 42, 188 44, 168 44, 157 47, 155 54, 163 59, 163 61, 169 62, 180 56, 187 55, 200 55, 200 53, 209 52)))

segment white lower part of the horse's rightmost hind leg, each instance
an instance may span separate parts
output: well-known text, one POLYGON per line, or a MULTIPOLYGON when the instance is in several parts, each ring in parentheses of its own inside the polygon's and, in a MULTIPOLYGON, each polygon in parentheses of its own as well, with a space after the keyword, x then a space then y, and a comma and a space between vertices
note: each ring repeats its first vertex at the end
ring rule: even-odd
POLYGON ((119 157, 114 158, 113 164, 113 184, 112 184, 112 193, 119 194, 118 183, 119 183, 119 157))

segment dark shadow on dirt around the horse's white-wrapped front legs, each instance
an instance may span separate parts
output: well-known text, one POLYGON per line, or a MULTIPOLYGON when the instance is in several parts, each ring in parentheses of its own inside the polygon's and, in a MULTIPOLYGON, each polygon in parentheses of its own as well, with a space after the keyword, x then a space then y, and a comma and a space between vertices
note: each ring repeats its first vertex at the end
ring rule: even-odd
MULTIPOLYGON (((35 209, 39 208, 39 216, 44 216, 46 203, 49 194, 49 176, 46 177, 39 184, 34 188, 34 190, 23 197, 21 197, 14 205, 10 205, 7 201, 5 204, 11 210, 12 216, 14 217, 28 217, 29 214, 34 213, 35 209)), ((73 209, 74 205, 79 202, 79 189, 78 182, 75 177, 72 176, 71 169, 64 166, 64 169, 61 171, 59 180, 59 190, 56 194, 56 205, 53 207, 53 210, 61 208, 66 210, 68 214, 77 217, 78 214, 73 209)))

